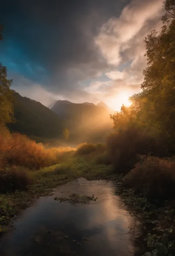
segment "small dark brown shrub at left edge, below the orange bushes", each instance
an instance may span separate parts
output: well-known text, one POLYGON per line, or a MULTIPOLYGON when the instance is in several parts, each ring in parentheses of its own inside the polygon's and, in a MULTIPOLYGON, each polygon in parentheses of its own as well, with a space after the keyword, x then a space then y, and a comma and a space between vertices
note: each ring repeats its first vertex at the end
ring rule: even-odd
POLYGON ((24 167, 9 166, 0 170, 0 192, 11 192, 26 189, 30 184, 27 170, 24 167))

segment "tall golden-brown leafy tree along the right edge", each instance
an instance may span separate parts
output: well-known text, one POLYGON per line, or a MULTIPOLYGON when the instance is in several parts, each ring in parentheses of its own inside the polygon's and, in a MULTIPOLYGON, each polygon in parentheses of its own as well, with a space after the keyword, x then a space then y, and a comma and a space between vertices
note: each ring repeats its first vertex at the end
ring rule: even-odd
POLYGON ((166 0, 164 9, 161 31, 153 30, 145 38, 143 92, 131 101, 145 126, 175 143, 175 0, 166 0))

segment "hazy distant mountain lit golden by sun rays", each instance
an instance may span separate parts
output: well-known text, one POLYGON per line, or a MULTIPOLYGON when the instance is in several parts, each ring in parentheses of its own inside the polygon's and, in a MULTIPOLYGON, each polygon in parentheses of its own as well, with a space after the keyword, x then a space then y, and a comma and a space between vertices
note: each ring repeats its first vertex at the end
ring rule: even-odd
POLYGON ((100 142, 111 131, 110 111, 104 106, 58 100, 51 110, 62 119, 71 140, 100 142))

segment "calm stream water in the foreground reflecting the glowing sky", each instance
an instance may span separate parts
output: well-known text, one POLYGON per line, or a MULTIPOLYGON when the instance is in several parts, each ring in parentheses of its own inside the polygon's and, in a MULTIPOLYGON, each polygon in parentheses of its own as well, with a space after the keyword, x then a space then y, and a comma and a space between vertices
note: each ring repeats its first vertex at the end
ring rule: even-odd
POLYGON ((56 188, 53 196, 41 197, 23 211, 16 229, 1 238, 1 255, 133 256, 137 220, 115 191, 112 182, 83 178, 56 188), (98 199, 83 205, 54 200, 55 195, 67 197, 73 192, 95 194, 98 199))

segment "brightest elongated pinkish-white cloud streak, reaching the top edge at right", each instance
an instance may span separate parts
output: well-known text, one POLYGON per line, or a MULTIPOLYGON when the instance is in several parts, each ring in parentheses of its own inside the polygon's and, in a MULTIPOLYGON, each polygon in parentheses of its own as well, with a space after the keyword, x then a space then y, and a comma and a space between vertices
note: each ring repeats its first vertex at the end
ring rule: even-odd
POLYGON ((141 31, 144 29, 146 35, 150 33, 149 24, 154 26, 161 16, 162 0, 133 0, 119 18, 110 18, 103 24, 95 43, 109 64, 119 65, 122 53, 131 49, 130 41, 134 39, 137 45, 141 31))

